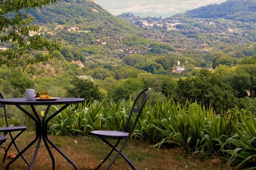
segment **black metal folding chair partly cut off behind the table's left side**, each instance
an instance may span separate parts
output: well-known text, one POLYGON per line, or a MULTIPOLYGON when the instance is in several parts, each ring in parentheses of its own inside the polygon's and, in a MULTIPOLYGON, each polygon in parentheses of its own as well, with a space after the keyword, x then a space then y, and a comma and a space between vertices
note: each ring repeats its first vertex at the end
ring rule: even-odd
MULTIPOLYGON (((1 99, 4 98, 1 93, 0 93, 0 98, 1 99)), ((8 116, 7 116, 7 111, 6 111, 5 105, 0 104, 0 108, 4 109, 4 119, 5 119, 5 123, 6 123, 5 127, 0 128, 0 133, 2 133, 3 135, 9 134, 10 138, 11 138, 11 142, 9 143, 9 145, 5 149, 5 154, 4 154, 4 157, 3 157, 3 162, 4 162, 5 158, 7 156, 7 153, 9 151, 9 149, 11 148, 12 144, 17 149, 17 151, 20 152, 15 140, 21 135, 22 132, 24 132, 27 129, 27 127, 26 126, 9 126, 9 121, 8 121, 8 116), (18 132, 18 133, 13 136, 12 132, 18 132)), ((29 165, 26 158, 23 155, 21 155, 21 157, 23 158, 23 160, 25 160, 26 164, 29 165)))

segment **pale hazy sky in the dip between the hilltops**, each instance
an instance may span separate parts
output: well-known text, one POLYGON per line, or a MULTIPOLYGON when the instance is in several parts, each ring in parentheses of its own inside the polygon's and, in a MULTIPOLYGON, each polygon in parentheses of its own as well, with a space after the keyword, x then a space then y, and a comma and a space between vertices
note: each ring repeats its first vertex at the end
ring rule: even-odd
POLYGON ((168 17, 187 10, 221 4, 227 0, 95 0, 97 4, 113 15, 133 13, 135 16, 168 17))

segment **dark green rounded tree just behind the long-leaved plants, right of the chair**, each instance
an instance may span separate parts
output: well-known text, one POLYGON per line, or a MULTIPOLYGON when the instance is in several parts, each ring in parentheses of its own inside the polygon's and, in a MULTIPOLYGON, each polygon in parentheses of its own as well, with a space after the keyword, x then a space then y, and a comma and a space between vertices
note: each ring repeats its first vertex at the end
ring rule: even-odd
POLYGON ((222 80, 206 69, 200 70, 197 76, 181 78, 178 81, 177 97, 180 104, 186 100, 197 101, 205 107, 210 104, 217 113, 227 111, 235 105, 233 89, 222 80))

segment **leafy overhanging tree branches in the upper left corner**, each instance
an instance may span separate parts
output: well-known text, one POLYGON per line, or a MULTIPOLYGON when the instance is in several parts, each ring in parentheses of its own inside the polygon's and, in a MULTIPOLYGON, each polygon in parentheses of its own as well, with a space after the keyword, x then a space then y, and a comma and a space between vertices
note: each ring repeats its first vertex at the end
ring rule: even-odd
POLYGON ((28 65, 47 61, 54 57, 54 52, 60 46, 38 34, 39 27, 31 24, 32 16, 24 10, 42 7, 58 0, 1 0, 0 1, 0 40, 4 42, 4 50, 0 50, 0 65, 9 67, 21 66, 31 71, 28 65), (44 53, 35 57, 34 52, 41 50, 44 53))

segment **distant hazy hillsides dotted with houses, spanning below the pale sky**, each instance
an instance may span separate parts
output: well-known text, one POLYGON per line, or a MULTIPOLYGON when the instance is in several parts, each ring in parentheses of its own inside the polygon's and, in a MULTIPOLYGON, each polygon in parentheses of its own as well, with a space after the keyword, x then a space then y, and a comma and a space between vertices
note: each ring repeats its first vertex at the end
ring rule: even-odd
POLYGON ((61 55, 67 61, 102 67, 127 64, 127 57, 139 54, 156 66, 130 66, 158 72, 163 67, 167 71, 167 66, 156 63, 163 55, 172 63, 181 61, 197 67, 211 67, 215 52, 234 60, 254 55, 254 10, 255 1, 237 0, 169 18, 139 18, 132 14, 116 17, 91 1, 62 0, 31 9, 29 15, 40 25, 41 35, 62 45, 61 55))

